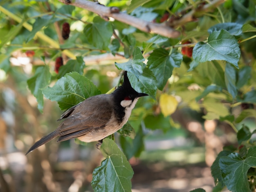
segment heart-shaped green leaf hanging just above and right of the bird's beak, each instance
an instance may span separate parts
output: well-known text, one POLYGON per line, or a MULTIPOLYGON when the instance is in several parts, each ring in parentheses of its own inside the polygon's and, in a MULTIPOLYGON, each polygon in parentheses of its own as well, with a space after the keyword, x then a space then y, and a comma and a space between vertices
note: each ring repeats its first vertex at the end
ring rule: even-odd
POLYGON ((163 48, 155 49, 148 57, 148 66, 157 78, 157 88, 163 90, 168 78, 173 74, 174 67, 180 67, 182 54, 172 53, 163 48))

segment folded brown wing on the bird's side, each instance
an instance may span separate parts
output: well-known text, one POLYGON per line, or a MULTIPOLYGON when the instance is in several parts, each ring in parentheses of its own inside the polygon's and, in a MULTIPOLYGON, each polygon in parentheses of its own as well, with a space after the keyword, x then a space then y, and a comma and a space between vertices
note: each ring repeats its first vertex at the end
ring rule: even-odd
POLYGON ((65 141, 71 138, 83 136, 92 130, 102 129, 110 120, 112 107, 106 97, 99 95, 79 103, 73 111, 65 116, 65 120, 58 126, 60 138, 58 141, 65 141))

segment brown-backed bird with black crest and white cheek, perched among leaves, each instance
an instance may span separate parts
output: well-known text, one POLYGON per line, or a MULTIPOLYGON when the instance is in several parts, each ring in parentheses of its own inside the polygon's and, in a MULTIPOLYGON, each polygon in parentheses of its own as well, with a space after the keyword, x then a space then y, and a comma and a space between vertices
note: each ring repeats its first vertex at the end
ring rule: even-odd
POLYGON ((91 96, 67 109, 57 120, 63 120, 57 129, 34 143, 26 155, 58 136, 57 142, 72 138, 78 138, 86 143, 99 141, 96 145, 98 148, 103 138, 117 132, 126 124, 132 109, 142 96, 148 94, 135 91, 130 84, 127 71, 124 71, 124 82, 121 86, 111 94, 91 96))

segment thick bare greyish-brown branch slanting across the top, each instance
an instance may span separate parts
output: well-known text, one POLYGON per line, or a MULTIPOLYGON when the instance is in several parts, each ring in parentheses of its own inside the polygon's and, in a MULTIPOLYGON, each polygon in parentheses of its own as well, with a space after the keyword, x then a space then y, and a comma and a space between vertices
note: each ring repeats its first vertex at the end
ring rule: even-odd
MULTIPOLYGON (((65 3, 65 0, 58 1, 65 3)), ((97 13, 104 19, 112 17, 115 20, 124 22, 147 33, 156 33, 168 38, 177 38, 178 36, 180 36, 179 31, 176 31, 175 29, 168 27, 165 24, 158 24, 141 20, 139 18, 130 16, 127 13, 117 11, 113 13, 113 11, 111 11, 111 7, 106 7, 102 4, 99 4, 98 2, 91 2, 88 0, 73 0, 70 4, 97 13)))

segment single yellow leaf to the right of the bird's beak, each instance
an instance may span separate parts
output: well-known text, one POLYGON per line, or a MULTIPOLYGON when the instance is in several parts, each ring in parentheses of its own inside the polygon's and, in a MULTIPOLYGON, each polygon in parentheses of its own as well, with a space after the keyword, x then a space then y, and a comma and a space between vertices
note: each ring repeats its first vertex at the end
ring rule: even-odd
POLYGON ((164 117, 167 117, 176 111, 178 101, 174 96, 171 96, 168 94, 162 94, 160 95, 160 98, 159 98, 159 105, 160 105, 162 114, 164 115, 164 117))

